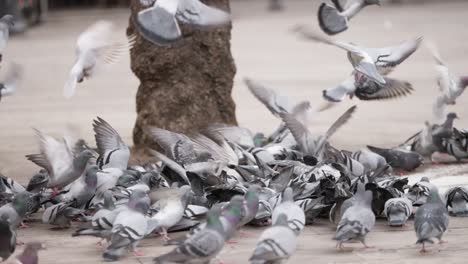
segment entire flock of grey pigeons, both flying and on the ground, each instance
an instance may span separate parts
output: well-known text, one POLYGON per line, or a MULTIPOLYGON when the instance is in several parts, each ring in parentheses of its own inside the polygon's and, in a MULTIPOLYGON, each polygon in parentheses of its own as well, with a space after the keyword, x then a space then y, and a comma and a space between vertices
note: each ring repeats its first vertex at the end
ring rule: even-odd
MULTIPOLYGON (((333 0, 318 12, 322 30, 333 35, 347 29, 349 19, 378 0, 333 0)), ((141 0, 148 6, 135 18, 140 34, 156 45, 170 45, 183 38, 178 23, 212 28, 229 22, 229 14, 198 0, 141 0)), ((0 19, 2 42, 8 39, 10 18, 0 19)), ((100 21, 82 33, 77 42, 77 60, 64 88, 75 93, 76 85, 94 75, 100 65, 114 62, 131 48, 111 40, 112 24, 100 21)), ((295 32, 306 39, 347 51, 353 66, 350 78, 323 92, 329 104, 346 95, 361 100, 389 99, 410 94, 409 82, 386 77, 419 47, 422 38, 385 48, 365 48, 336 41, 307 27, 295 32)), ((27 186, 6 176, 0 179, 0 258, 11 263, 38 263, 38 242, 12 256, 18 227, 42 215, 54 229, 73 228, 73 237, 95 236, 103 247, 102 257, 116 261, 130 250, 140 256, 138 243, 160 235, 168 253, 154 263, 209 263, 216 258, 244 225, 268 226, 258 239, 251 263, 281 263, 295 251, 297 237, 317 217, 327 217, 337 226, 337 248, 357 240, 365 247, 366 235, 376 218, 390 226, 405 225, 414 217, 417 243, 434 238, 443 242, 449 211, 468 215, 468 191, 454 187, 445 195, 423 177, 410 186, 399 174, 412 171, 436 152, 468 158, 468 132, 456 129, 456 114, 445 114, 468 84, 467 77, 451 74, 432 46, 440 73, 440 96, 434 103, 439 121, 424 128, 400 146, 390 149, 367 146, 356 152, 333 147, 330 138, 357 111, 349 108, 319 136, 308 130, 312 109, 307 101, 294 103, 251 79, 249 90, 281 120, 276 131, 265 136, 247 128, 212 124, 203 131, 184 135, 152 127, 160 150, 149 150, 155 162, 129 166, 130 149, 118 132, 101 118, 93 122, 97 148, 82 139, 56 139, 36 130, 39 154, 27 159, 41 169, 27 186), (443 119, 443 120, 440 120, 443 119), (162 151, 161 151, 162 150, 162 151), (443 197, 443 198, 441 198, 443 197), (72 222, 78 221, 78 224, 72 222), (182 237, 169 233, 186 231, 182 237), (7 260, 9 259, 10 260, 7 260), (12 258, 14 258, 12 260, 12 258)), ((12 76, 18 76, 18 71, 12 76)), ((18 79, 13 78, 14 82, 18 79)), ((10 83, 13 82, 10 80, 10 83)), ((8 82, 1 88, 7 94, 8 82)), ((14 85, 12 85, 14 86, 14 85)), ((5 93, 4 93, 5 92, 5 93)), ((78 239, 78 238, 77 238, 78 239)))

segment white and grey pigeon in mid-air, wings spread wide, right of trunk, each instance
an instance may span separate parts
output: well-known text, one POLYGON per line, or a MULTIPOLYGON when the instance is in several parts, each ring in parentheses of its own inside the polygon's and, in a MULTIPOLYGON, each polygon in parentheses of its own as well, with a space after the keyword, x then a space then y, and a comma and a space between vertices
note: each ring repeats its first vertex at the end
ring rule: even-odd
POLYGON ((354 71, 350 78, 337 87, 323 91, 323 97, 327 101, 341 102, 346 95, 350 97, 355 95, 360 100, 385 100, 406 96, 413 91, 410 83, 388 78, 386 75, 418 49, 422 37, 394 46, 366 48, 321 36, 306 26, 298 26, 295 31, 305 39, 336 46, 347 51, 354 71))

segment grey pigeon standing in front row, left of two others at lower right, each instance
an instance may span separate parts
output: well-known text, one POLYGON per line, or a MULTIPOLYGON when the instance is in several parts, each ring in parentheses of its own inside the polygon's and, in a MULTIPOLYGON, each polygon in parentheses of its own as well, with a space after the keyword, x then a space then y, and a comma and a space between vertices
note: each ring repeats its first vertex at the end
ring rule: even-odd
POLYGON ((356 197, 353 205, 341 217, 336 229, 337 247, 342 249, 343 243, 358 240, 368 247, 365 238, 375 225, 375 215, 372 211, 372 192, 366 191, 362 197, 356 197))

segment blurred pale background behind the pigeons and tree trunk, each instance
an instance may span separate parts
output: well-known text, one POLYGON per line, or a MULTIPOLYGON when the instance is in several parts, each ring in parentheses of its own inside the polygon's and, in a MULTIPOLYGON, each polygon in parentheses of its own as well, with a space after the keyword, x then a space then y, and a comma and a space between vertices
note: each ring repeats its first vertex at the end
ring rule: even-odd
MULTIPOLYGON (((322 103, 322 90, 345 80, 351 66, 341 50, 299 39, 291 32, 298 24, 318 29, 322 1, 289 0, 281 12, 270 12, 267 0, 231 0, 231 51, 237 66, 233 89, 237 120, 253 132, 271 133, 279 120, 260 104, 243 83, 246 77, 264 83, 292 100, 322 103)), ((100 19, 115 24, 115 35, 125 36, 130 11, 119 0, 0 0, 0 12, 16 17, 15 34, 4 53, 0 80, 12 63, 24 68, 18 92, 0 102, 0 171, 25 182, 37 167, 24 156, 38 151, 32 128, 61 137, 73 131, 94 145, 92 120, 100 116, 132 145, 135 94, 139 81, 130 58, 80 84, 70 100, 62 89, 75 61, 79 34, 100 19), (68 132, 67 132, 68 131, 68 132)), ((353 18, 348 31, 336 39, 368 47, 383 47, 424 36, 435 42, 457 74, 466 73, 468 1, 399 0, 369 7, 353 18), (397 2, 397 3, 392 3, 397 2)), ((319 30, 319 29, 318 29, 319 30)), ((332 142, 355 150, 367 144, 402 143, 432 118, 438 93, 433 60, 424 45, 391 77, 411 82, 415 92, 385 102, 346 100, 317 115, 310 128, 321 133, 353 104, 358 111, 332 142)), ((460 116, 457 127, 468 128, 468 94, 451 107, 460 116)))

